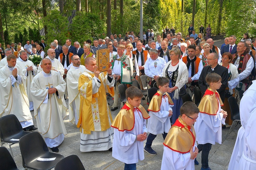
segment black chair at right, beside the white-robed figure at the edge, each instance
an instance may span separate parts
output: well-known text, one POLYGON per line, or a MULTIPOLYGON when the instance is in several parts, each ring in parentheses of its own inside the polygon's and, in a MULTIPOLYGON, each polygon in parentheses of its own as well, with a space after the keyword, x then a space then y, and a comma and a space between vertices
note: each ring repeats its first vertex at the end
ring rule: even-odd
POLYGON ((238 104, 237 104, 237 101, 236 99, 231 96, 228 98, 228 103, 229 103, 229 107, 230 107, 230 118, 231 120, 233 121, 232 125, 230 126, 230 129, 228 130, 228 133, 225 137, 225 139, 228 137, 228 135, 234 130, 234 128, 236 127, 236 125, 238 125, 241 120, 240 120, 240 111, 239 111, 239 107, 238 107, 238 104), (231 130, 231 127, 233 126, 233 124, 236 122, 236 125, 234 125, 232 131, 230 132, 231 130), (230 132, 230 133, 229 133, 230 132))

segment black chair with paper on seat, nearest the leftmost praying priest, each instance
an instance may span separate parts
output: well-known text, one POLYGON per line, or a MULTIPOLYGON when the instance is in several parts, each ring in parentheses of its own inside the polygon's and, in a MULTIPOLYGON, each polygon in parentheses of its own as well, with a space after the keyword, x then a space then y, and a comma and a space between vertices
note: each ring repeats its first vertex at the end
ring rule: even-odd
POLYGON ((18 139, 29 133, 30 132, 25 132, 23 130, 22 125, 19 123, 18 118, 14 114, 9 114, 0 118, 1 146, 3 146, 4 143, 7 143, 10 147, 12 157, 13 153, 11 145, 19 143, 18 139))

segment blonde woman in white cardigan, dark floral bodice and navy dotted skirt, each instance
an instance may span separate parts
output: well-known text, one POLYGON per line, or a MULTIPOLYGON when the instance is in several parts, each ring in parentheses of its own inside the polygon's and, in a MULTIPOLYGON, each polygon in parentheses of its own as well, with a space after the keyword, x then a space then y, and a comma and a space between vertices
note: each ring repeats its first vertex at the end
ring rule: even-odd
POLYGON ((181 95, 186 93, 185 84, 188 82, 188 70, 186 64, 180 59, 181 50, 179 48, 171 49, 170 61, 166 63, 160 77, 167 77, 169 82, 168 93, 172 98, 174 106, 172 107, 171 124, 174 124, 179 118, 180 108, 183 105, 181 95))

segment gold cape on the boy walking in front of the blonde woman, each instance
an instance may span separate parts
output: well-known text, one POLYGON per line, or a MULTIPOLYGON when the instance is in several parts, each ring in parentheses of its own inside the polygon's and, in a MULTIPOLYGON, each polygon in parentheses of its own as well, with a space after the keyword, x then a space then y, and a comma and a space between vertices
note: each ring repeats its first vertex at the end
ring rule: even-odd
MULTIPOLYGON (((162 93, 158 90, 156 94, 152 97, 150 101, 150 105, 148 106, 148 111, 158 112, 160 111, 160 106, 162 103, 162 93)), ((165 93, 168 98, 168 102, 170 105, 173 105, 172 99, 168 93, 165 93)))

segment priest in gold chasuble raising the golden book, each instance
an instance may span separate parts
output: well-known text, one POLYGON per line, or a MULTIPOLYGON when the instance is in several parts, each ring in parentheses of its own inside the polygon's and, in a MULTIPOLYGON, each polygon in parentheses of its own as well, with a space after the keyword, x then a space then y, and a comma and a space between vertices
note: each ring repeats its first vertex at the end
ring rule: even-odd
POLYGON ((77 128, 80 127, 80 151, 112 150, 113 128, 110 128, 113 119, 106 100, 106 92, 114 95, 114 78, 112 69, 108 75, 99 72, 96 59, 85 59, 86 71, 79 77, 78 90, 80 91, 80 118, 77 128))

